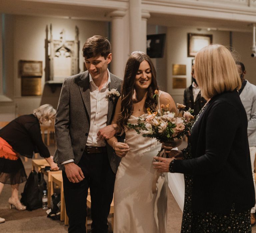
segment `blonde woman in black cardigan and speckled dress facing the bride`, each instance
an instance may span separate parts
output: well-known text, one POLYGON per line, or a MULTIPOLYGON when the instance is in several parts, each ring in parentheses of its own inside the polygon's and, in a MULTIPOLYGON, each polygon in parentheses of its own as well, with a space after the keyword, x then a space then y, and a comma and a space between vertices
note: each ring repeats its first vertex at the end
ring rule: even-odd
POLYGON ((251 232, 254 186, 241 81, 231 53, 209 45, 195 58, 195 78, 208 100, 194 123, 188 147, 157 158, 159 172, 185 175, 181 232, 251 232), (183 160, 175 159, 179 154, 183 160))

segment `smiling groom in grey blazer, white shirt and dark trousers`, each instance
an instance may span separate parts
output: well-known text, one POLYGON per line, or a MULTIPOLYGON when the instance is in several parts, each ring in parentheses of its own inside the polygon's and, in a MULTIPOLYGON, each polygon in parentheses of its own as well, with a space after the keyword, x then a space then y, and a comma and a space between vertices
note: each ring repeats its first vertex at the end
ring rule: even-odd
POLYGON ((90 188, 91 232, 107 233, 115 173, 121 158, 105 139, 115 134, 110 124, 122 80, 107 69, 112 54, 106 38, 87 39, 83 57, 88 71, 66 78, 61 89, 54 160, 63 169, 68 231, 86 232, 86 199, 90 188), (109 95, 110 90, 113 95, 109 95))

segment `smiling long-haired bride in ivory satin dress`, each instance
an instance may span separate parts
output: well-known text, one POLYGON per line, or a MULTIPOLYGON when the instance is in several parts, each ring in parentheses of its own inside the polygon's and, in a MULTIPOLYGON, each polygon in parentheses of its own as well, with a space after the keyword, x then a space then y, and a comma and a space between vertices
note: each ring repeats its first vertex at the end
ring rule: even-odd
POLYGON ((117 123, 117 131, 125 132, 125 142, 118 142, 116 137, 108 139, 122 157, 114 188, 114 233, 166 233, 167 174, 157 174, 152 164, 161 143, 126 127, 127 123, 136 124, 139 117, 146 117, 147 108, 157 111, 162 104, 169 104, 169 110, 177 113, 168 93, 159 91, 160 103, 153 99, 155 90, 158 86, 152 61, 143 52, 133 52, 126 63, 122 93, 112 121, 117 123))

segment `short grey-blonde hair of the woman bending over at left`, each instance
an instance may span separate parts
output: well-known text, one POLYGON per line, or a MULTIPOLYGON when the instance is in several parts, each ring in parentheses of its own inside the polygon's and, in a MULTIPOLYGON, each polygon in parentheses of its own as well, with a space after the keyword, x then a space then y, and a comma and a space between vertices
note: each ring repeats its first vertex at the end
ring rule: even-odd
POLYGON ((44 122, 47 122, 55 117, 56 110, 51 105, 45 104, 35 109, 33 114, 37 117, 39 122, 43 124, 44 122))

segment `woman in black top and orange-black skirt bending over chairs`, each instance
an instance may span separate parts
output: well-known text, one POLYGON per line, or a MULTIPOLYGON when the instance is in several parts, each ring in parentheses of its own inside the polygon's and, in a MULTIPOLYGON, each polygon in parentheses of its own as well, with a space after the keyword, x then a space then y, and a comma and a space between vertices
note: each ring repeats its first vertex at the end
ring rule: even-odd
MULTIPOLYGON (((51 170, 59 169, 42 141, 40 130, 40 124, 51 122, 55 115, 56 110, 45 104, 35 109, 33 114, 19 116, 0 129, 0 193, 4 184, 11 185, 10 208, 26 209, 18 195, 19 184, 27 179, 20 155, 32 158, 33 152, 39 152, 50 164, 51 170)), ((0 222, 4 221, 0 218, 0 222)))

